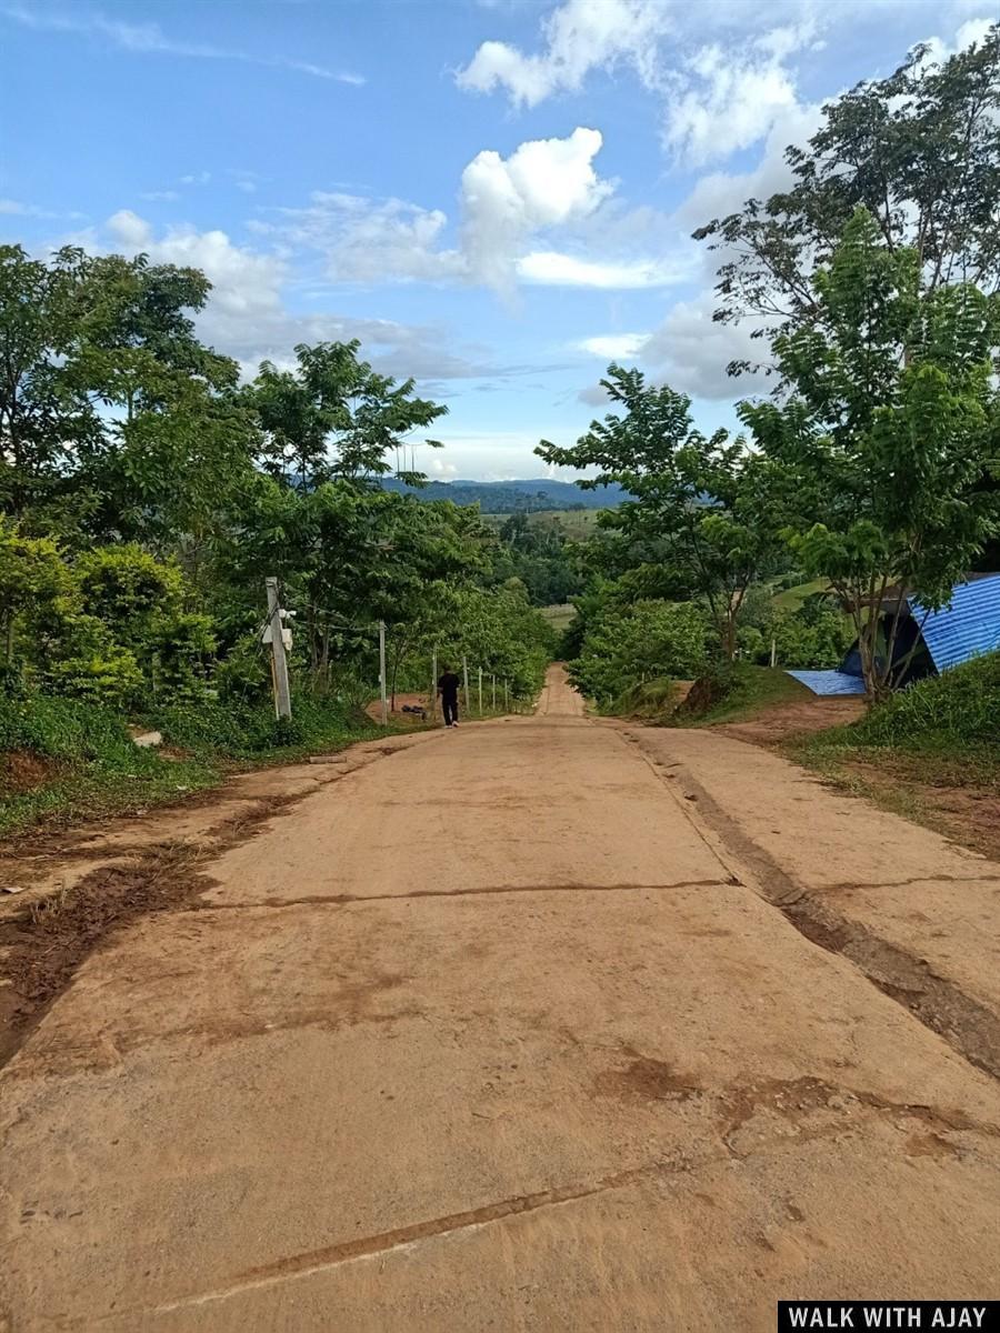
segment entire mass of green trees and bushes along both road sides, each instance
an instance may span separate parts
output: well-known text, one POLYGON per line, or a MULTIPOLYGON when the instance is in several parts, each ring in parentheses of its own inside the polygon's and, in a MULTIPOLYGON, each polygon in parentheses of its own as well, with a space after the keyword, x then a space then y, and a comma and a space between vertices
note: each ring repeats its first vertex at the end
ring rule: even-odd
POLYGON ((856 643, 873 710, 851 745, 987 753, 979 702, 973 728, 941 721, 964 677, 892 697, 887 612, 1000 567, 1000 28, 911 52, 787 159, 787 191, 696 233, 717 251, 715 317, 752 321, 735 393, 751 371, 771 392, 737 401, 741 433, 707 432, 687 395, 608 367, 608 413, 536 449, 604 512, 528 512, 544 496, 521 484, 489 521, 427 499, 400 459, 435 447, 444 405, 357 343, 241 381, 197 337, 196 269, 0 249, 0 712, 20 718, 7 753, 36 756, 8 762, 31 789, 12 798, 57 804, 65 777, 49 796, 31 780, 49 764, 177 790, 351 738, 379 623, 393 697, 429 688, 436 653, 523 706, 559 628, 596 708, 699 724, 801 696, 783 668, 835 668, 856 643), (285 728, 265 576, 296 617, 285 728), (104 757, 17 729, 63 704, 92 709, 104 757), (172 757, 121 750, 103 717, 160 730, 172 757))

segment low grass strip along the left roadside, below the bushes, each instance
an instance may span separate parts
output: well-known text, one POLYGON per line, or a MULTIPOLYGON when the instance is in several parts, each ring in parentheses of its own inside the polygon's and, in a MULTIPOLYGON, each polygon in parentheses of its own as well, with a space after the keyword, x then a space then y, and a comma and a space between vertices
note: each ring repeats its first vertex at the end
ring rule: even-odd
POLYGON ((240 768, 289 762, 381 733, 368 718, 311 698, 295 701, 288 724, 279 724, 268 704, 219 702, 164 709, 145 721, 163 733, 168 753, 135 745, 123 718, 97 704, 0 700, 0 761, 15 778, 0 785, 0 836, 143 810, 216 786, 240 768), (25 756, 31 764, 19 764, 25 756), (25 768, 37 780, 17 782, 25 768))

